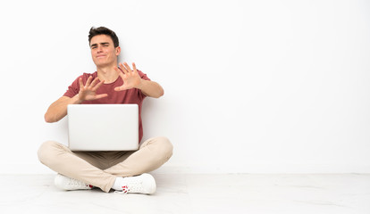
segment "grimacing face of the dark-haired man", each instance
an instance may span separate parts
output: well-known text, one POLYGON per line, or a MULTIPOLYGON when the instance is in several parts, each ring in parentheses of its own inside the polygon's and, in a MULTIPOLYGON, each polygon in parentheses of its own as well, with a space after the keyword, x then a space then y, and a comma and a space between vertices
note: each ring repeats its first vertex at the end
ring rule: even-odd
POLYGON ((121 48, 115 47, 111 37, 97 35, 90 41, 91 56, 97 67, 117 66, 117 56, 121 48))

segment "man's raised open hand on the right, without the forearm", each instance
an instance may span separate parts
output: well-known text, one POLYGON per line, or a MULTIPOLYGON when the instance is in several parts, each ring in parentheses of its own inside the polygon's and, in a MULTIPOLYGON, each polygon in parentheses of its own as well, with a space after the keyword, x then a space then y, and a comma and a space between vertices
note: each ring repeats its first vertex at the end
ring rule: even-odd
POLYGON ((133 87, 140 88, 141 86, 141 78, 139 76, 138 70, 136 69, 135 63, 132 62, 132 69, 130 66, 124 62, 123 64, 120 63, 120 69, 114 68, 118 72, 118 75, 123 80, 123 85, 114 88, 114 91, 123 91, 133 87))

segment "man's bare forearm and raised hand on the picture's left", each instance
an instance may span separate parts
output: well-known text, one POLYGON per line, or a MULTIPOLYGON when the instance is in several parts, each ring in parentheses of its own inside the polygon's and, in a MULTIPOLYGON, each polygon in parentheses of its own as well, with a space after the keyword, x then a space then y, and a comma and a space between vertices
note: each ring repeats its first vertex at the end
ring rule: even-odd
POLYGON ((44 119, 46 122, 57 122, 60 119, 63 119, 67 115, 67 106, 69 104, 80 104, 88 100, 97 100, 107 96, 106 94, 97 95, 97 88, 104 83, 104 80, 97 83, 99 80, 95 78, 91 82, 92 77, 89 77, 84 86, 82 83, 82 78, 80 78, 80 91, 79 94, 74 95, 73 97, 62 96, 57 101, 52 103, 47 109, 44 119))

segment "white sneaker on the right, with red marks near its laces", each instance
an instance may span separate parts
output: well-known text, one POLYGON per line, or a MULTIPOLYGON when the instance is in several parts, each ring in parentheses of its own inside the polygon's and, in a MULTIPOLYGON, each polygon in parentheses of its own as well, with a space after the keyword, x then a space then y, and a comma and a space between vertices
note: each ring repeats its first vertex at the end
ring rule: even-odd
POLYGON ((156 180, 147 173, 135 177, 123 177, 120 185, 122 190, 117 190, 114 193, 151 194, 156 192, 156 180))

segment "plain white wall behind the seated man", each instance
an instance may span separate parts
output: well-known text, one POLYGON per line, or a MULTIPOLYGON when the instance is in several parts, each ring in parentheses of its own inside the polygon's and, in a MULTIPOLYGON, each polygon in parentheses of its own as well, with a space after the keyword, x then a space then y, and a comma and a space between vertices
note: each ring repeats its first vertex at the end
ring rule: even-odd
POLYGON ((164 172, 370 173, 368 1, 3 1, 1 173, 51 173, 66 144, 48 105, 95 67, 88 29, 164 86, 145 136, 168 136, 164 172))

